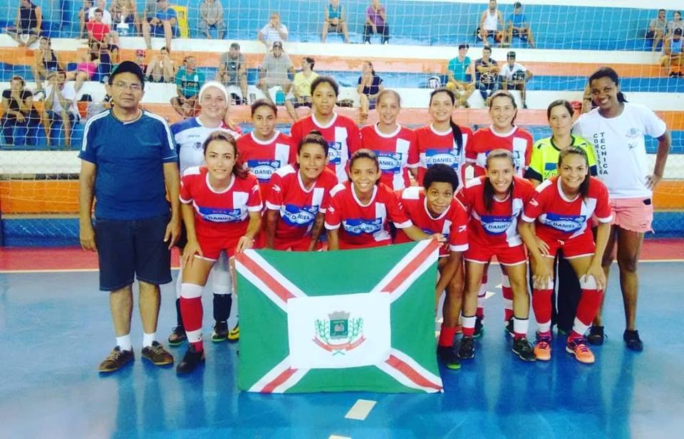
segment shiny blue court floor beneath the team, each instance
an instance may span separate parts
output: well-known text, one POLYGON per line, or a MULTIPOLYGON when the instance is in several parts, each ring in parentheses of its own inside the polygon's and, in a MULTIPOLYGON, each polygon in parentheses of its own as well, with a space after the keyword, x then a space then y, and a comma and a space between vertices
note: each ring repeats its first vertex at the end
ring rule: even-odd
MULTIPOLYGON (((577 363, 554 340, 550 362, 526 364, 504 335, 492 267, 474 360, 442 370, 445 393, 259 395, 235 386, 237 345, 207 342, 207 362, 178 378, 140 358, 134 311, 132 366, 100 376, 113 347, 108 297, 97 273, 0 274, 1 438, 682 438, 682 263, 642 263, 638 329, 645 349, 623 347, 616 270, 606 303, 608 339, 596 364, 577 363), (377 401, 364 421, 345 415, 377 401)), ((165 287, 157 334, 175 321, 165 287)), ((205 337, 211 302, 205 297, 205 337), (208 305, 208 306, 207 306, 208 305)), ((530 334, 534 333, 534 325, 530 334)), ((172 349, 176 361, 185 346, 172 349)))

